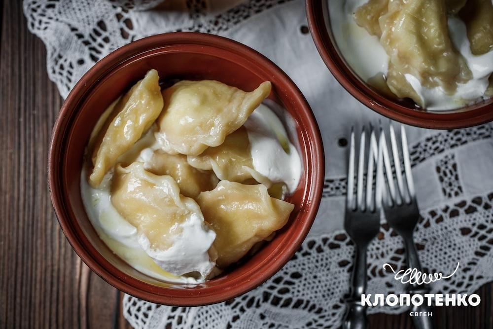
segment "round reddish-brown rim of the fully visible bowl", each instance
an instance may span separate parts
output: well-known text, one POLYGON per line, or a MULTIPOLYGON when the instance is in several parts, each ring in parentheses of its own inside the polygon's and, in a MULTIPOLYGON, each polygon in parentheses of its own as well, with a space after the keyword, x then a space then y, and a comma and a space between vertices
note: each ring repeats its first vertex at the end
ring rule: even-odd
MULTIPOLYGON (((321 201, 324 173, 325 157, 322 146, 322 139, 317 121, 315 119, 315 115, 313 114, 313 111, 311 110, 308 102, 306 101, 299 88, 288 77, 288 75, 284 73, 267 57, 242 43, 225 37, 219 37, 198 32, 172 32, 151 37, 145 37, 116 49, 115 51, 102 58, 99 62, 97 62, 87 73, 85 73, 80 78, 80 80, 70 91, 67 99, 64 101, 53 127, 48 153, 48 187, 50 198, 60 227, 75 253, 93 272, 95 272, 98 276, 103 278, 107 283, 117 288, 118 290, 153 303, 165 304, 170 306, 200 306, 226 301, 256 288, 257 286, 268 280, 270 277, 272 277, 274 274, 276 274, 282 268, 282 266, 284 266, 285 263, 287 263, 287 261, 291 259, 292 256, 296 253, 300 245, 305 240, 315 220, 321 201), (156 43, 159 43, 161 45, 158 46, 156 45, 156 43), (64 178, 61 177, 63 173, 63 166, 61 166, 62 161, 60 154, 62 146, 64 145, 64 137, 68 133, 68 128, 71 124, 70 118, 72 118, 76 114, 77 109, 83 102, 84 96, 86 96, 87 93, 101 79, 107 76, 107 74, 110 73, 113 68, 118 67, 119 64, 131 59, 133 56, 152 49, 158 49, 168 45, 180 44, 199 44, 224 49, 237 54, 242 54, 242 56, 248 56, 252 62, 256 63, 262 68, 265 68, 267 71, 276 73, 277 77, 282 80, 282 83, 288 86, 289 89, 293 91, 293 96, 296 103, 300 104, 300 108, 302 108, 303 111, 306 112, 306 118, 308 120, 306 128, 309 129, 310 135, 315 136, 315 140, 310 139, 310 149, 313 150, 311 153, 314 154, 314 156, 312 157, 312 167, 314 168, 314 170, 311 176, 313 177, 313 179, 312 184, 309 188, 309 194, 311 196, 311 199, 309 200, 310 206, 304 212, 306 214, 306 219, 300 225, 300 229, 297 231, 295 236, 293 236, 293 243, 289 243, 283 247, 282 254, 280 254, 279 257, 276 257, 274 261, 269 263, 269 266, 265 268, 264 273, 259 274, 258 276, 249 277, 244 283, 228 287, 227 290, 219 290, 213 295, 183 293, 181 296, 169 296, 158 292, 153 293, 151 292, 152 287, 155 286, 153 286, 152 284, 145 283, 141 280, 133 278, 133 280, 139 282, 140 285, 149 287, 147 291, 144 291, 141 290, 139 287, 128 284, 124 277, 115 276, 113 273, 103 267, 93 256, 94 252, 98 254, 99 252, 94 249, 92 244, 90 242, 87 242, 89 243, 89 249, 94 249, 94 251, 88 251, 84 246, 84 243, 86 242, 82 242, 77 236, 75 229, 72 227, 72 219, 65 206, 65 198, 62 193, 64 191, 64 178), (141 49, 142 47, 143 49, 141 49), (135 51, 132 51, 135 49, 139 49, 139 51, 137 53, 135 51), (132 55, 128 57, 127 53, 130 53, 132 55)), ((83 238, 87 240, 84 236, 83 238)), ((101 254, 100 256, 106 259, 101 254)), ((171 288, 159 287, 159 289, 166 290, 171 288)), ((187 291, 190 292, 189 290, 187 291)))

